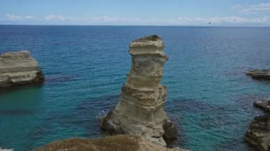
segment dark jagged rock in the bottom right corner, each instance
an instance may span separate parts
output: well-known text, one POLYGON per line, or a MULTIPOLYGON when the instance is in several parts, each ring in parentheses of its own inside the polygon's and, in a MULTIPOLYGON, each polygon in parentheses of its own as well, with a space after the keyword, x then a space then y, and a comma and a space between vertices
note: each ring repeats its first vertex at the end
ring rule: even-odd
POLYGON ((254 106, 261 108, 266 114, 254 118, 244 140, 257 146, 259 150, 270 150, 270 99, 254 102, 254 106))

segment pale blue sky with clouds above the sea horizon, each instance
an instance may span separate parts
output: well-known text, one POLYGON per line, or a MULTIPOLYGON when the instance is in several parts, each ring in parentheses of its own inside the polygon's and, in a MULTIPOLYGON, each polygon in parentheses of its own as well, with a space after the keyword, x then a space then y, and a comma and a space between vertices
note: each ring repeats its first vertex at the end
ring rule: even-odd
POLYGON ((0 0, 0 24, 270 26, 270 0, 0 0))

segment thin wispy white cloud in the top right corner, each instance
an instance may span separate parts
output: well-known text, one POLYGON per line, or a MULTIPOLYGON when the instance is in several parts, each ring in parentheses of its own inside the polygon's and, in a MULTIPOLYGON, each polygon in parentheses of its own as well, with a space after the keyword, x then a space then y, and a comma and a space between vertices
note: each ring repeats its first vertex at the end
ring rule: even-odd
POLYGON ((240 13, 261 13, 270 12, 270 3, 253 4, 253 5, 235 5, 230 9, 239 10, 240 13))

